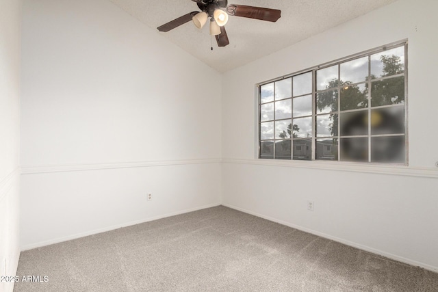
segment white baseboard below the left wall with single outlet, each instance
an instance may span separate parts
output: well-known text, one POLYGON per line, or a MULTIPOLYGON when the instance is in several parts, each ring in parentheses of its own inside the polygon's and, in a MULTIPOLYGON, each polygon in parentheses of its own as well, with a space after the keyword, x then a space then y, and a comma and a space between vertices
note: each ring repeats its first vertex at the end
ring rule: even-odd
POLYGON ((123 224, 107 226, 105 228, 99 228, 99 229, 90 230, 90 231, 87 231, 85 233, 77 233, 75 235, 68 235, 66 237, 58 237, 58 238, 50 239, 50 240, 47 240, 47 241, 40 241, 38 243, 32 243, 32 244, 29 244, 29 245, 22 246, 21 247, 21 251, 23 252, 25 250, 33 250, 34 248, 41 248, 42 246, 52 245, 52 244, 55 244, 55 243, 61 243, 61 242, 64 242, 64 241, 78 239, 78 238, 81 238, 81 237, 86 237, 86 236, 90 236, 90 235, 96 235, 98 233, 104 233, 104 232, 115 230, 115 229, 118 229, 118 228, 123 228, 123 227, 127 227, 127 226, 133 226, 133 225, 136 225, 136 224, 141 224, 141 223, 145 223, 145 222, 159 220, 159 219, 166 218, 166 217, 171 217, 171 216, 175 216, 175 215, 181 215, 181 214, 184 214, 184 213, 189 213, 189 212, 193 212, 193 211, 198 211, 198 210, 207 209, 207 208, 211 208, 211 207, 218 207, 218 206, 220 206, 220 202, 217 202, 217 203, 214 203, 214 204, 207 204, 207 205, 200 206, 200 207, 194 207, 194 208, 191 208, 191 209, 185 209, 185 210, 181 210, 181 211, 177 211, 177 212, 166 213, 166 214, 158 215, 158 216, 154 216, 154 217, 144 218, 142 220, 136 220, 136 221, 126 222, 126 223, 123 223, 123 224))

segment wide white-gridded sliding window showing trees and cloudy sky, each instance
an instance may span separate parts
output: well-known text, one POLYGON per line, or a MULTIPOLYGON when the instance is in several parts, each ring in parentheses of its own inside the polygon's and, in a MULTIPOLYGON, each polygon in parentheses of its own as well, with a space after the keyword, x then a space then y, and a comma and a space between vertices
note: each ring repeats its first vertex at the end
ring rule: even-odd
POLYGON ((407 42, 259 85, 259 158, 407 164, 407 42))

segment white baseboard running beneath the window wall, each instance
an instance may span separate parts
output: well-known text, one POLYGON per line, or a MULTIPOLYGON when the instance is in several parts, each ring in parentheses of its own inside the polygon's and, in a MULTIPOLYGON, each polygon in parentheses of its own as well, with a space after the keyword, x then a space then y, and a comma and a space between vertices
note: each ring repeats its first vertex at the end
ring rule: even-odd
POLYGON ((398 256, 396 254, 391 254, 389 252, 383 252, 382 250, 377 250, 375 248, 370 248, 369 246, 361 245, 359 243, 348 241, 346 239, 342 239, 342 238, 339 238, 339 237, 334 237, 334 236, 328 235, 326 233, 320 233, 318 231, 311 230, 309 228, 298 226, 296 224, 292 224, 292 223, 289 223, 289 222, 285 222, 283 220, 276 219, 274 217, 270 217, 270 216, 266 216, 266 215, 263 215, 263 214, 260 214, 260 213, 249 211, 249 210, 246 210, 246 209, 243 209, 243 208, 240 208, 240 207, 236 207, 236 206, 233 206, 231 204, 224 203, 224 202, 222 202, 222 206, 229 207, 231 209, 235 209, 237 211, 241 211, 241 212, 244 212, 244 213, 247 213, 247 214, 250 214, 250 215, 254 215, 254 216, 257 216, 257 217, 261 217, 263 219, 266 219, 266 220, 269 220, 269 221, 272 221, 272 222, 276 222, 276 223, 279 223, 279 224, 282 224, 282 225, 285 225, 285 226, 289 226, 289 227, 292 227, 292 228, 304 231, 305 233, 311 233, 313 235, 318 235, 319 237, 324 237, 326 239, 337 241, 339 243, 343 243, 345 245, 349 245, 352 248, 357 248, 359 250, 364 250, 365 252, 372 252, 373 254, 378 254, 380 256, 385 256, 386 258, 390 258, 391 260, 394 260, 394 261, 399 261, 401 263, 406 263, 408 265, 413 265, 415 267, 422 267, 424 269, 427 269, 428 271, 433 271, 435 273, 438 272, 438 267, 434 267, 433 265, 427 265, 425 263, 420 263, 420 262, 417 262, 417 261, 413 261, 413 260, 411 260, 409 258, 404 258, 404 257, 398 256))

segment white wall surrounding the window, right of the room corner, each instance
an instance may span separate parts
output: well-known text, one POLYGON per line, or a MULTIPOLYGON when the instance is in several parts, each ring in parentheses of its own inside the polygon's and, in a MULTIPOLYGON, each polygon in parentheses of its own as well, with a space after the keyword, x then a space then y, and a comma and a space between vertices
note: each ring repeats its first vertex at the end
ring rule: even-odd
POLYGON ((437 11, 400 0, 225 73, 223 203, 438 271, 437 11), (255 159, 256 83, 406 38, 409 167, 255 159))

